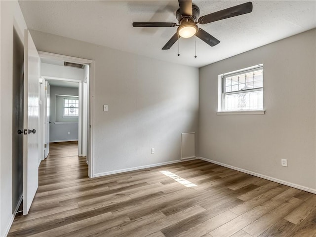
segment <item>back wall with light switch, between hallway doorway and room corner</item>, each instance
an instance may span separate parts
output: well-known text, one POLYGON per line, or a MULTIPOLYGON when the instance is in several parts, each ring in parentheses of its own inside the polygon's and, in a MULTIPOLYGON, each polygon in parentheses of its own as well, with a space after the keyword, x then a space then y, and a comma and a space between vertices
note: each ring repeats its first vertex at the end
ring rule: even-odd
POLYGON ((197 132, 197 68, 31 34, 40 51, 95 60, 94 173, 181 158, 181 133, 197 132))

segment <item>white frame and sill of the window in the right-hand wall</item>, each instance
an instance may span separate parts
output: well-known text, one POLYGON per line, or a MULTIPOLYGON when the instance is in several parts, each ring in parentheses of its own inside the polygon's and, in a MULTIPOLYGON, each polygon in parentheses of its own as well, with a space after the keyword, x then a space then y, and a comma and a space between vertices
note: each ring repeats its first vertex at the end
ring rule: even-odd
MULTIPOLYGON (((224 73, 218 75, 218 111, 217 115, 264 115, 265 110, 259 109, 259 110, 235 110, 235 111, 225 111, 225 95, 227 94, 238 94, 238 93, 244 93, 245 91, 251 92, 251 91, 263 91, 264 86, 260 88, 254 88, 254 89, 246 89, 242 91, 233 91, 233 92, 225 92, 225 78, 232 77, 234 75, 254 72, 257 70, 263 70, 263 64, 255 65, 252 67, 240 69, 237 71, 224 73)), ((263 105, 264 108, 264 105, 263 105)))

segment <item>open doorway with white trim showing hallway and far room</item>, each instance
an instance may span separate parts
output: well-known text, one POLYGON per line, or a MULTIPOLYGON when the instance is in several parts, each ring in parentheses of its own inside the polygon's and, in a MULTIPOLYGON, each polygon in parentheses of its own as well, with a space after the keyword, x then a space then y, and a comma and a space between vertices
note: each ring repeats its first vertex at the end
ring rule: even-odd
POLYGON ((78 140, 78 156, 86 157, 92 177, 91 75, 93 61, 39 52, 43 103, 41 159, 47 158, 50 142, 78 140), (68 64, 68 65, 66 65, 68 64), (70 65, 70 66, 69 66, 70 65), (80 68, 81 66, 81 68, 80 68), (76 93, 77 91, 77 93, 76 93))

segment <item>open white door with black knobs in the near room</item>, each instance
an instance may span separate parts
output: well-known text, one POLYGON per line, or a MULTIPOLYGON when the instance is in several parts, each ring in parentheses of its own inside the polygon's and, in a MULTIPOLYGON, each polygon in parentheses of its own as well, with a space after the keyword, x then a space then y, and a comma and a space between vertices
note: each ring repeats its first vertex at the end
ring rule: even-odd
POLYGON ((39 187, 40 58, 28 30, 24 32, 23 215, 28 214, 39 187))

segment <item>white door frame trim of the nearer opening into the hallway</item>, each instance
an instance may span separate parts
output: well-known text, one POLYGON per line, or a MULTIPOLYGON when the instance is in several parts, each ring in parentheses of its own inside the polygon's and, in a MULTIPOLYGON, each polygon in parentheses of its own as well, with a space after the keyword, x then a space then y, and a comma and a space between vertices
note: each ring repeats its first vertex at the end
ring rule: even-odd
MULTIPOLYGON (((87 164, 88 164, 88 176, 89 178, 94 177, 93 166, 94 166, 94 60, 77 58, 72 56, 66 56, 55 53, 48 53, 43 51, 38 51, 40 58, 54 59, 60 61, 67 61, 72 63, 79 63, 89 65, 89 97, 88 105, 89 105, 89 134, 87 139, 87 164)), ((43 77, 44 79, 58 79, 53 77, 43 77)), ((74 79, 67 79, 71 81, 74 79)), ((76 81, 78 82, 78 81, 76 81)), ((79 87, 80 87, 79 83, 79 87)), ((80 92, 79 92, 80 93, 80 92)), ((41 121, 43 122, 43 121, 41 121)), ((81 128, 80 128, 81 129, 81 128)))

